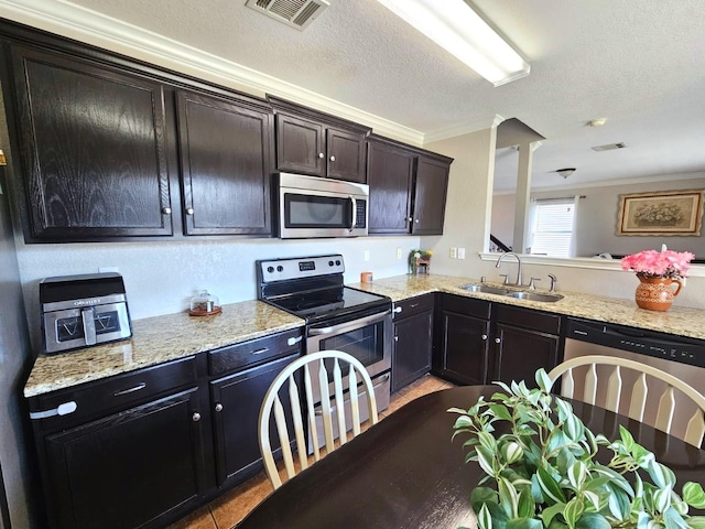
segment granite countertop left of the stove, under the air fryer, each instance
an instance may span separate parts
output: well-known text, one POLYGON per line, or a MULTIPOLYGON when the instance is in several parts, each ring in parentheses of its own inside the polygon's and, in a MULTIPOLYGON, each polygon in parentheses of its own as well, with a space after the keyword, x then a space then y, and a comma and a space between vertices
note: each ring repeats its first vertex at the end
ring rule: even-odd
POLYGON ((223 305, 223 313, 213 316, 182 312, 134 320, 129 341, 39 356, 24 386, 24 397, 302 327, 304 323, 261 301, 223 305))

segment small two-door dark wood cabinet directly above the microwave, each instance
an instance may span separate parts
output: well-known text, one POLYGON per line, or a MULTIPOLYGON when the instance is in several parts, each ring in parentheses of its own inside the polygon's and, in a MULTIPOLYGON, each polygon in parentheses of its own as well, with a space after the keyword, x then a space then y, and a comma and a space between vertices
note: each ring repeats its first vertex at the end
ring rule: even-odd
POLYGON ((370 128, 268 96, 276 115, 276 170, 367 182, 370 128))

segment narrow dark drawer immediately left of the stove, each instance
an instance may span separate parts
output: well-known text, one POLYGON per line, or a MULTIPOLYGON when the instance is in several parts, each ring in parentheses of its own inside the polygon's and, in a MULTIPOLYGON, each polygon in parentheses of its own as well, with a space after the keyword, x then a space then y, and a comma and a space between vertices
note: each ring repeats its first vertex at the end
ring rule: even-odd
POLYGON ((302 330, 294 328, 212 350, 208 354, 209 373, 210 375, 223 375, 290 354, 292 349, 300 347, 301 341, 302 330))

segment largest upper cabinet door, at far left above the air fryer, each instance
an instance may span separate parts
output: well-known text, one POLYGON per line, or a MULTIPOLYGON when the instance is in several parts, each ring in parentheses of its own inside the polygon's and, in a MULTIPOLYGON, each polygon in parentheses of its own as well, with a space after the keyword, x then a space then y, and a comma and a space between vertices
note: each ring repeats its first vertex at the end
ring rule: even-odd
POLYGON ((172 235, 160 84, 13 48, 29 240, 172 235))

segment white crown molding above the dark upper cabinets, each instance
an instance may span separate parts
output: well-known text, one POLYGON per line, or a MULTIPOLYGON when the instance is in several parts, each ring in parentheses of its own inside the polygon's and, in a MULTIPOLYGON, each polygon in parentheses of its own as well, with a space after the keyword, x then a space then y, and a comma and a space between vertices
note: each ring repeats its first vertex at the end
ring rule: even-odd
POLYGON ((0 15, 258 97, 276 95, 417 147, 424 143, 421 131, 66 0, 0 0, 0 15))

